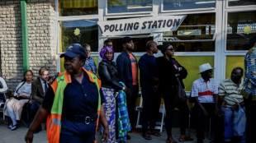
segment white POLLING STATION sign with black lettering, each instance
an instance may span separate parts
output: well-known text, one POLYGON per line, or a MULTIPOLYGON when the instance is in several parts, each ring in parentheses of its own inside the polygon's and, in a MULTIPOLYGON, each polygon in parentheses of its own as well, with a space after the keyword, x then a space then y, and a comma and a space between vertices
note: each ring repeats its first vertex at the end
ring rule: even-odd
POLYGON ((103 36, 135 35, 144 33, 174 31, 185 16, 151 16, 116 21, 98 21, 103 36))

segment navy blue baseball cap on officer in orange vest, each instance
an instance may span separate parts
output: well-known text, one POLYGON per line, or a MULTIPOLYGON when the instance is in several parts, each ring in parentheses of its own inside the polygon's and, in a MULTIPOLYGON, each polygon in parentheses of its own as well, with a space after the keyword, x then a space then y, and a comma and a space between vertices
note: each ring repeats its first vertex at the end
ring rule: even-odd
POLYGON ((62 53, 59 57, 63 58, 65 56, 69 58, 75 58, 77 56, 86 58, 86 50, 80 44, 69 44, 66 48, 66 52, 62 53))

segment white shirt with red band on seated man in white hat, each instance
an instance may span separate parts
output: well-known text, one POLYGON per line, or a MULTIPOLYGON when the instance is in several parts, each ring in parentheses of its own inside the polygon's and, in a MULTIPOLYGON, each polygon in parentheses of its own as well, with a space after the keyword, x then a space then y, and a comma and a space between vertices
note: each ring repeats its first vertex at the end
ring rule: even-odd
POLYGON ((218 82, 211 78, 204 81, 202 77, 193 82, 191 96, 198 97, 200 103, 214 103, 213 95, 218 94, 218 82))

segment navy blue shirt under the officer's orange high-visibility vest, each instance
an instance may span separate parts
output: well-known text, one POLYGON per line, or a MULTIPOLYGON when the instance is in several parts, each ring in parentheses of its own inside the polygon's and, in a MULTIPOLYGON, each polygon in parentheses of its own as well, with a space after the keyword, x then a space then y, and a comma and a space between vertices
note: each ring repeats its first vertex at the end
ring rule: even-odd
MULTIPOLYGON (((72 83, 68 84, 64 90, 62 117, 97 116, 98 92, 95 83, 89 81, 88 74, 85 71, 83 71, 82 85, 73 76, 71 76, 71 79, 72 83)), ((100 94, 102 103, 104 103, 102 90, 100 90, 100 94)), ((42 105, 50 109, 54 98, 55 93, 50 86, 42 105)))

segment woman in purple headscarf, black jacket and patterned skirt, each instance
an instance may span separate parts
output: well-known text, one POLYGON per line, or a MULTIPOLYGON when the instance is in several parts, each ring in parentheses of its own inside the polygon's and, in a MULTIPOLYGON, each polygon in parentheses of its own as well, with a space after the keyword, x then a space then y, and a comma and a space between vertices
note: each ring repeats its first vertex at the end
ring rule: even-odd
POLYGON ((98 74, 102 81, 102 92, 106 99, 104 109, 110 130, 110 137, 107 142, 116 142, 116 93, 119 90, 126 90, 126 85, 121 84, 118 77, 113 48, 106 46, 101 49, 102 61, 98 66, 98 74))

